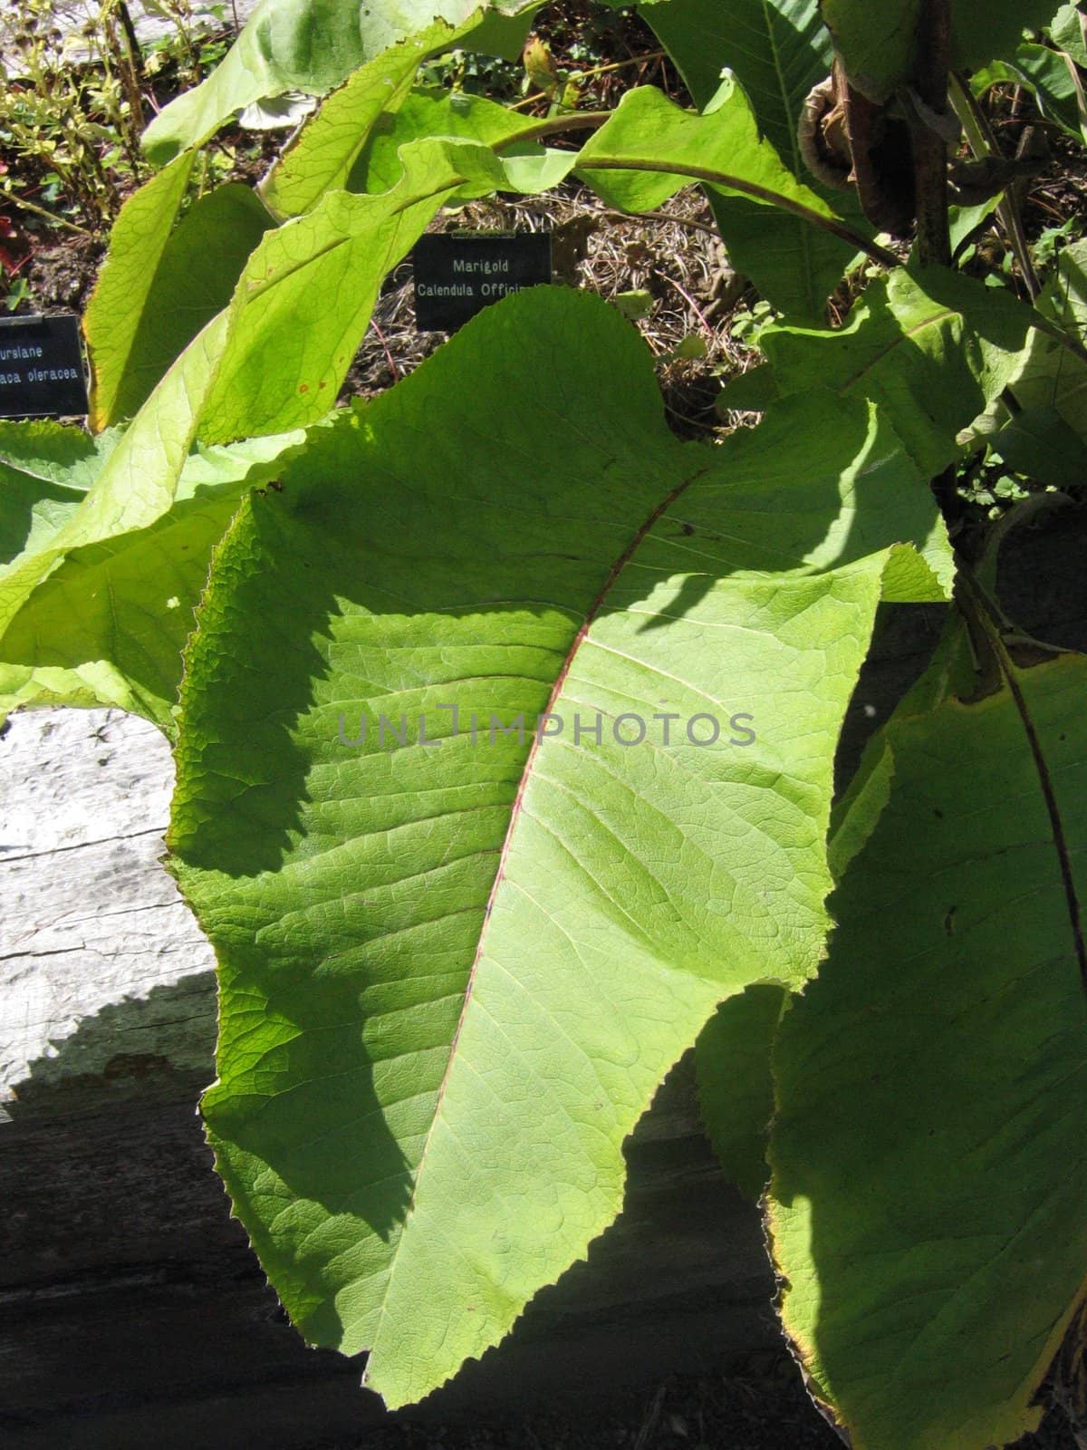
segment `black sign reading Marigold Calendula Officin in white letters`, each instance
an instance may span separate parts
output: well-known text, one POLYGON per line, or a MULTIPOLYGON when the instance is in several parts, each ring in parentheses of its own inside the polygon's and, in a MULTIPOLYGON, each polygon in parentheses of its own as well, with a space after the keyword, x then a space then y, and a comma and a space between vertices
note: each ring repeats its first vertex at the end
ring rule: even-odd
POLYGON ((415 318, 454 332, 491 302, 551 281, 549 232, 439 232, 415 246, 415 318))

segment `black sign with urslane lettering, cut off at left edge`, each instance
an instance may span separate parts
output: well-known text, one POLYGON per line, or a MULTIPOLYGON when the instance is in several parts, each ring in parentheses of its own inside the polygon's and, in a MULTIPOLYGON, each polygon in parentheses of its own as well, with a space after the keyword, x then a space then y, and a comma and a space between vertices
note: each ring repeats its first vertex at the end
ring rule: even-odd
POLYGON ((86 412, 78 318, 0 318, 0 418, 86 412))

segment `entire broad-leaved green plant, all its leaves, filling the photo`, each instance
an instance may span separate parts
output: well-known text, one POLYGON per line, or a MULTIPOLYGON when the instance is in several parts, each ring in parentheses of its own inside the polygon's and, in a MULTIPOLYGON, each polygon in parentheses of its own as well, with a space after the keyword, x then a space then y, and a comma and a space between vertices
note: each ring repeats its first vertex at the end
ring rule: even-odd
POLYGON ((300 1331, 390 1405, 607 1230, 696 1045, 855 1446, 1015 1440, 1062 1344, 1078 1409, 1084 661, 999 566, 1084 481, 1087 246, 1022 200, 1087 54, 1052 0, 870 12, 659 0, 694 104, 601 104, 535 39, 525 107, 457 78, 532 6, 265 0, 143 135, 90 432, 0 425, 6 705, 174 741, 216 1163, 300 1331), (286 93, 319 104, 257 187, 201 187, 286 93), (442 207, 571 177, 617 213, 704 187, 762 299, 722 397, 754 426, 677 438, 629 319, 570 287, 333 406, 442 207), (888 602, 945 635, 836 795, 888 602))

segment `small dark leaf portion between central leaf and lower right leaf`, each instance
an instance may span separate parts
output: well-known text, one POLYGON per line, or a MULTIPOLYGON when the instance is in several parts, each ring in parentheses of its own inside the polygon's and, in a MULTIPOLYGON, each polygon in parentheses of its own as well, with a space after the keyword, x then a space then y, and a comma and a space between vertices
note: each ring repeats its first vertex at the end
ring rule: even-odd
POLYGON ((784 987, 749 986, 722 1002, 694 1044, 701 1121, 725 1176, 752 1199, 770 1179, 770 1053, 788 1002, 784 987))

